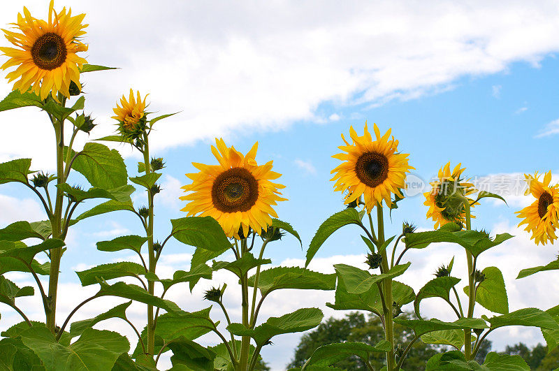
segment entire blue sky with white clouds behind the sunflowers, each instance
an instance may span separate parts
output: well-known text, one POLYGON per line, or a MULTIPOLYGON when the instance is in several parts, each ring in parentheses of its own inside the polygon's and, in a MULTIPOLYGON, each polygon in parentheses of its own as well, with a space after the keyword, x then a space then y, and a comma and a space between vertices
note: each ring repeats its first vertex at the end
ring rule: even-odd
MULTIPOLYGON (((164 191, 156 198, 156 234, 160 240, 169 231, 168 220, 184 216, 179 187, 187 181, 184 173, 194 171, 191 162, 216 163, 210 152, 215 136, 223 136, 228 145, 242 152, 258 141, 256 160, 274 161, 274 170, 282 173, 279 182, 286 185, 284 196, 289 198, 276 210, 279 219, 289 221, 300 233, 303 249, 321 222, 343 208, 342 194, 335 193, 330 182, 331 169, 339 163, 331 155, 342 144, 340 133, 347 136, 350 125, 362 132, 365 120, 370 127, 376 122, 383 132, 392 128, 400 141, 399 150, 410 154, 414 175, 426 181, 447 161, 463 163, 471 177, 518 177, 535 170, 552 170, 557 175, 559 134, 553 132, 559 131, 559 123, 553 122, 559 119, 559 61, 555 54, 559 45, 550 36, 557 33, 549 27, 559 24, 559 10, 545 2, 528 10, 518 3, 507 10, 498 4, 479 3, 467 9, 458 3, 444 4, 442 10, 417 13, 405 3, 376 8, 362 4, 363 9, 337 9, 329 3, 320 7, 315 17, 306 19, 308 10, 282 2, 261 6, 260 19, 254 17, 256 10, 246 5, 210 10, 193 3, 167 3, 161 10, 119 3, 115 12, 107 14, 103 6, 72 1, 73 10, 86 12, 91 24, 88 60, 122 68, 85 77, 86 112, 94 112, 99 123, 92 138, 114 130, 110 110, 129 86, 150 93, 152 110, 182 111, 157 124, 152 142, 152 154, 166 161, 161 177, 164 191), (121 10, 129 11, 130 16, 117 23, 115 14, 121 10), (275 18, 278 10, 282 12, 275 18), (211 19, 202 17, 210 11, 214 12, 211 19), (232 12, 236 17, 228 17, 232 12), (371 14, 387 21, 371 24, 371 14), (485 17, 492 14, 495 22, 485 17), (524 16, 518 21, 521 14, 524 16), (136 27, 152 19, 152 27, 136 27), (388 20, 400 22, 400 27, 388 20), (448 28, 447 22, 452 27, 448 28), (515 22, 523 27, 520 36, 515 22), (115 34, 126 43, 114 43, 115 34)), ((1 24, 13 22, 20 11, 16 5, 10 5, 9 17, 10 11, 0 15, 1 24)), ((30 8, 31 13, 45 12, 45 5, 38 1, 31 2, 30 8)), ((0 82, 2 94, 9 90, 6 82, 0 82)), ((33 157, 34 168, 52 169, 52 143, 45 140, 52 133, 43 114, 32 108, 2 112, 0 124, 7 126, 7 134, 0 138, 1 161, 33 157), (33 130, 29 131, 29 126, 33 130), (23 135, 28 136, 25 142, 23 135), (43 155, 43 151, 50 155, 43 155)), ((126 147, 118 149, 130 175, 136 175, 138 157, 126 147)), ((80 177, 75 181, 80 182, 80 177)), ((3 184, 0 205, 6 212, 0 215, 1 226, 27 217, 42 218, 31 196, 17 185, 3 184)), ((142 205, 143 194, 135 194, 134 199, 142 205)), ((542 288, 554 277, 553 272, 522 282, 514 280, 518 270, 546 263, 557 249, 536 247, 516 228, 514 211, 529 198, 516 195, 507 200, 509 207, 487 201, 475 208, 474 228, 518 236, 488 253, 482 265, 502 268, 511 310, 556 305, 557 298, 546 296, 542 288), (531 263, 526 254, 532 256, 531 263)), ((432 228, 422 203, 421 195, 402 201, 393 212, 389 234, 400 231, 402 220, 432 228)), ((62 312, 71 310, 78 303, 75 298, 89 292, 80 289, 73 270, 128 258, 126 253, 98 252, 95 242, 136 233, 140 233, 140 225, 124 212, 88 219, 73 228, 61 265, 61 282, 66 285, 62 312)), ((188 268, 192 249, 171 241, 166 245, 160 275, 188 268)), ((358 231, 348 227, 326 242, 312 268, 332 272, 333 263, 362 263, 364 252, 358 231)), ((451 256, 463 260, 461 254, 450 245, 412 252, 412 268, 402 279, 414 282, 417 291, 438 265, 447 263, 451 256)), ((267 255, 275 264, 300 264, 304 259, 300 245, 289 236, 267 249, 267 255)), ((457 263, 455 269, 463 273, 463 263, 457 263)), ((13 279, 28 282, 23 275, 13 275, 13 279)), ((234 280, 219 275, 215 284, 219 282, 234 280)), ((170 298, 185 310, 199 309, 206 304, 201 302, 201 291, 208 285, 210 282, 202 282, 192 296, 183 288, 170 298)), ((235 298, 232 293, 233 312, 240 305, 235 298)), ((333 300, 333 292, 286 293, 269 300, 264 319, 314 305, 328 316, 343 315, 324 305, 333 300)), ((75 319, 92 317, 111 303, 92 304, 75 319)), ((447 314, 436 302, 423 305, 432 317, 445 319, 447 314)), ((142 310, 138 306, 132 314, 138 323, 143 320, 142 310)), ((3 309, 1 314, 0 328, 19 321, 3 309)), ((31 317, 40 320, 41 312, 31 317)), ((130 335, 121 323, 110 322, 109 326, 130 335)), ((264 350, 263 356, 274 370, 289 362, 298 336, 279 337, 273 349, 264 350)), ((543 340, 536 330, 525 328, 495 332, 491 339, 496 349, 502 349, 511 337, 529 344, 543 340)), ((205 341, 212 344, 215 339, 205 341)))

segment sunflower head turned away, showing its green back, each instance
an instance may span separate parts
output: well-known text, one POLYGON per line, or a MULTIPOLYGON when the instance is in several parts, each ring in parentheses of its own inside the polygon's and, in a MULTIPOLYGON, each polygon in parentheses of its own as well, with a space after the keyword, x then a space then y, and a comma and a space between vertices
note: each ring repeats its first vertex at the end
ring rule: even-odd
MULTIPOLYGON (((475 193, 474 184, 464 181, 462 173, 465 168, 460 168, 462 164, 458 163, 454 170, 450 170, 450 162, 439 170, 439 179, 431 182, 431 191, 423 194, 426 201, 423 205, 429 207, 427 218, 435 221, 435 229, 444 224, 453 222, 462 224, 466 219, 466 208, 463 203, 463 197, 470 201, 470 205, 474 200, 468 198, 470 194, 475 193)), ((474 216, 471 215, 473 218, 474 216)))

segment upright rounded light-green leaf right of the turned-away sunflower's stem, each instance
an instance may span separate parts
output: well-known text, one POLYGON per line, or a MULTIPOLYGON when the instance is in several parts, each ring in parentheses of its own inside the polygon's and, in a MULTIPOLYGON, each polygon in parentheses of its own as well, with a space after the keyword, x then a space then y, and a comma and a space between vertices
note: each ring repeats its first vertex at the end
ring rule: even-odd
MULTIPOLYGON (((507 289, 504 287, 502 273, 497 267, 487 267, 482 273, 485 275, 483 282, 477 286, 476 301, 486 310, 507 314, 509 312, 509 299, 507 289)), ((469 294, 468 286, 464 287, 466 295, 469 294)))

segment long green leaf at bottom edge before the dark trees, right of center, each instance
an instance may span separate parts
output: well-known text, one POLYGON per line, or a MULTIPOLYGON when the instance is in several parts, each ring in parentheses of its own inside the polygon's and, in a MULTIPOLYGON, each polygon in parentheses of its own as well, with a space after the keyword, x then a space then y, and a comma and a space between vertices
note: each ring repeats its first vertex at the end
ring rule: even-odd
POLYGON ((310 356, 301 370, 308 370, 307 366, 310 365, 330 366, 354 355, 368 362, 371 354, 391 351, 391 348, 390 343, 386 340, 381 340, 375 347, 364 342, 342 342, 323 345, 312 353, 312 356, 310 356))

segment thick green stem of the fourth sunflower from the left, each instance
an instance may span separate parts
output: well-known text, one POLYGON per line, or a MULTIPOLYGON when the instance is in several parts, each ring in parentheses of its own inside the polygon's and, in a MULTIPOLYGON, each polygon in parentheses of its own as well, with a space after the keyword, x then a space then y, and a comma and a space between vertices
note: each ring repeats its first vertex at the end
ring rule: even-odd
MULTIPOLYGON (((382 214, 382 206, 377 205, 377 223, 378 223, 378 247, 384 244, 384 217, 382 214)), ((389 271, 389 260, 386 255, 386 249, 382 251, 382 272, 389 271)), ((384 302, 386 305, 383 308, 384 314, 384 335, 387 342, 390 343, 391 350, 386 352, 386 370, 392 371, 395 367, 394 359, 394 323, 392 319, 392 279, 385 278, 382 280, 382 288, 384 291, 384 302)))

